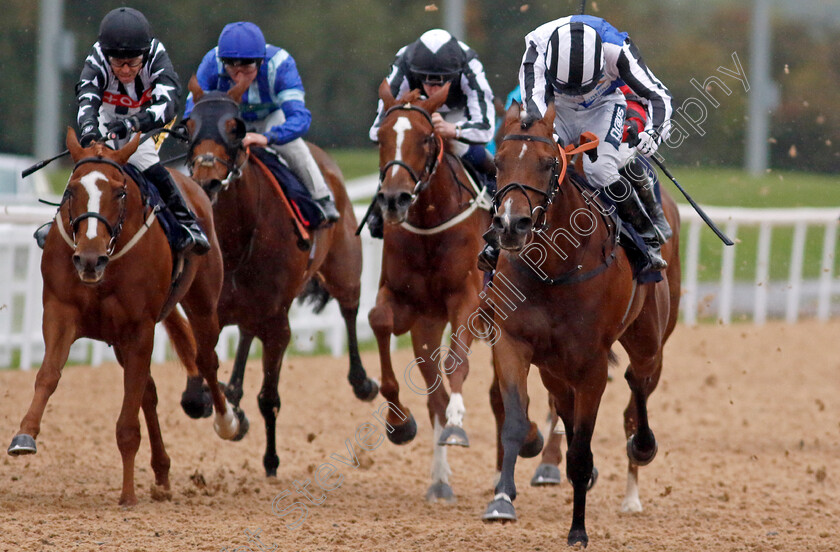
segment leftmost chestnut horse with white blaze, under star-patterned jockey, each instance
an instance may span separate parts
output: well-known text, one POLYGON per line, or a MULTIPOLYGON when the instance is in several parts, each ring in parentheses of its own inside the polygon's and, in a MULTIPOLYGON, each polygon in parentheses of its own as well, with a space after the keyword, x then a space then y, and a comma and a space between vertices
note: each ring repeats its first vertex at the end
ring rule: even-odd
MULTIPOLYGON (((12 440, 9 454, 34 454, 47 401, 58 386, 70 346, 88 337, 113 345, 124 369, 123 404, 117 419, 123 484, 119 503, 134 505, 134 459, 140 446, 143 408, 155 484, 169 491, 169 456, 156 412, 157 391, 150 373, 155 323, 163 320, 188 372, 201 376, 216 409, 216 432, 233 439, 244 417, 216 381, 219 335, 216 303, 222 285, 222 258, 212 225, 210 202, 188 178, 173 173, 212 245, 201 257, 186 259, 173 287, 173 259, 156 210, 147 209, 140 188, 123 165, 140 141, 136 135, 114 151, 102 143, 82 148, 67 131, 67 148, 76 163, 41 259, 44 279, 44 362, 35 395, 12 440), (180 302, 189 325, 174 309, 180 302)), ((155 493, 153 492, 153 496, 155 493)))

